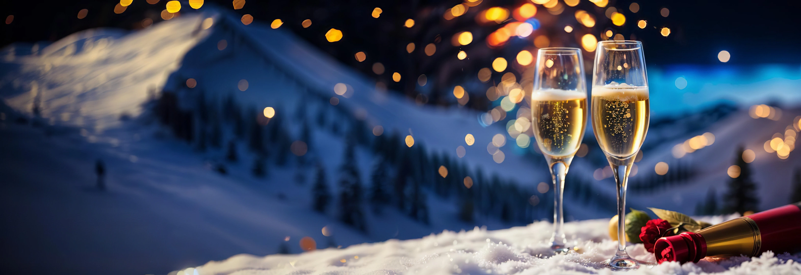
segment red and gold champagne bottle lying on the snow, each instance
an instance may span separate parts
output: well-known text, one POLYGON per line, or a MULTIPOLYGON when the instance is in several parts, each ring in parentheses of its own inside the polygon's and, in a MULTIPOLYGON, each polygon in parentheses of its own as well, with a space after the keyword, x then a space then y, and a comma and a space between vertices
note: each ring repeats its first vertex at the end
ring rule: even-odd
POLYGON ((703 257, 755 257, 801 249, 801 202, 739 217, 696 233, 661 237, 654 243, 658 262, 698 262, 703 257))

